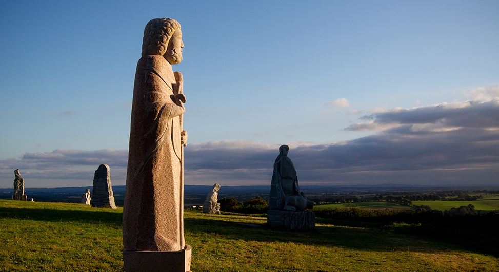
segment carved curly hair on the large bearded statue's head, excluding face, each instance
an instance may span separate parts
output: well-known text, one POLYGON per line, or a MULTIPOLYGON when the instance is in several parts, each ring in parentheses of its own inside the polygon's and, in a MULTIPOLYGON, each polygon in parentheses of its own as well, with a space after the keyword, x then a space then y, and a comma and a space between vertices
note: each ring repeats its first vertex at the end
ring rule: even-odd
POLYGON ((172 18, 156 18, 150 20, 144 29, 142 56, 164 55, 171 36, 178 29, 180 29, 180 23, 172 18))

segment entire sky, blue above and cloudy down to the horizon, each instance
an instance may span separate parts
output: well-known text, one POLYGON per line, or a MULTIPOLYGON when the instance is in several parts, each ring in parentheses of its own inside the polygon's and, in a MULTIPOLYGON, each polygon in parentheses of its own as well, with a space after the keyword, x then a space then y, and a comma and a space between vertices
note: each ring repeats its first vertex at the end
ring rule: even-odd
POLYGON ((135 66, 156 17, 177 19, 184 34, 174 69, 188 100, 187 184, 267 184, 284 143, 304 183, 498 184, 499 159, 487 153, 499 140, 490 117, 499 107, 498 11, 497 1, 4 1, 0 187, 15 168, 33 187, 86 186, 100 163, 125 184, 135 66), (422 112, 440 117, 423 122, 422 112), (449 123, 455 116, 469 118, 449 123), (490 147, 474 154, 484 140, 461 136, 482 132, 493 134, 490 147), (362 153, 380 139, 400 152, 362 153), (414 168, 430 154, 401 152, 394 144, 406 139, 441 159, 414 168), (405 164, 391 169, 396 158, 405 164))

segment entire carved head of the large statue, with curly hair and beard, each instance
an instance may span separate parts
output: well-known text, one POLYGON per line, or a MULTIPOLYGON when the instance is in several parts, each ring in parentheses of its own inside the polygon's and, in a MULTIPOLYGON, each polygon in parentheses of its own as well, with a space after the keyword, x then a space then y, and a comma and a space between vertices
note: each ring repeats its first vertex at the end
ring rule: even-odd
POLYGON ((182 30, 180 24, 172 18, 152 19, 144 29, 142 56, 160 55, 170 62, 182 61, 182 30))

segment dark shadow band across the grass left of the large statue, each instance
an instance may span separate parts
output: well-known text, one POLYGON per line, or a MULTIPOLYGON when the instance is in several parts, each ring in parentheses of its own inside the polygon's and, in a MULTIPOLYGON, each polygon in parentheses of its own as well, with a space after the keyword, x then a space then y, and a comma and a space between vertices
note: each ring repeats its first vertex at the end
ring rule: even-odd
POLYGON ((48 222, 82 222, 109 224, 113 227, 122 225, 123 214, 106 211, 57 210, 36 208, 0 207, 0 218, 15 218, 48 222))

